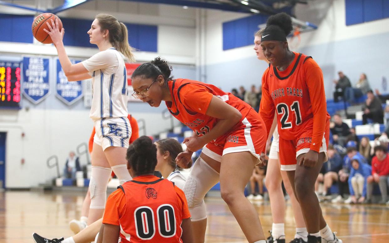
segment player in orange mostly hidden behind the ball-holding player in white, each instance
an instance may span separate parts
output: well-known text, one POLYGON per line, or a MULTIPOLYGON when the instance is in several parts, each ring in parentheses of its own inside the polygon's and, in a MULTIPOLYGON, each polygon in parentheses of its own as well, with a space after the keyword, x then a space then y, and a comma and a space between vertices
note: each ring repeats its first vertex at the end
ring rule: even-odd
MULTIPOLYGON (((128 114, 127 118, 130 121, 130 125, 131 125, 131 137, 129 139, 129 144, 131 144, 139 137, 139 128, 138 128, 137 120, 132 115, 128 114)), ((92 153, 93 137, 95 137, 95 134, 96 134, 96 130, 95 130, 95 127, 93 127, 92 134, 89 137, 89 144, 88 144, 88 149, 89 149, 90 154, 92 153)), ((115 176, 115 174, 112 171, 111 177, 114 177, 114 176, 115 176)), ((88 188, 88 192, 86 193, 86 196, 84 198, 84 202, 82 203, 80 220, 73 219, 73 220, 70 220, 70 222, 69 222, 69 227, 73 231, 74 234, 77 234, 80 231, 82 231, 82 229, 85 229, 85 227, 87 225, 86 222, 88 221, 89 205, 90 204, 91 204, 91 195, 90 195, 89 188, 88 188)))

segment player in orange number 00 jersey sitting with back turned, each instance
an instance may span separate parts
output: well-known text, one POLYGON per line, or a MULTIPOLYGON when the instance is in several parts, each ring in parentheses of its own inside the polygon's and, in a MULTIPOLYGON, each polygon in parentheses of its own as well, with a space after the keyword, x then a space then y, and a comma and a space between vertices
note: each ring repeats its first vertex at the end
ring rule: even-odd
POLYGON ((142 136, 127 150, 127 169, 133 177, 107 200, 97 242, 191 243, 190 213, 184 192, 153 175, 157 148, 142 136))

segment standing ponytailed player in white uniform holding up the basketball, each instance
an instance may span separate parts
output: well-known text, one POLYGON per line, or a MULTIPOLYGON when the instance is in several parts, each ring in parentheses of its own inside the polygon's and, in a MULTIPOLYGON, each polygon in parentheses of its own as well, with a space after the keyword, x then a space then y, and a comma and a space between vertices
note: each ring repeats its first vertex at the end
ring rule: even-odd
POLYGON ((66 54, 62 41, 65 30, 59 30, 58 21, 47 23, 45 31, 53 40, 68 80, 92 78, 93 96, 89 116, 95 125, 96 135, 91 154, 89 225, 103 216, 111 169, 121 184, 131 180, 126 168, 131 127, 127 118, 127 77, 122 54, 133 61, 133 48, 128 44, 126 26, 114 16, 106 14, 98 14, 87 32, 90 43, 97 45, 100 52, 77 64, 72 64, 66 54))

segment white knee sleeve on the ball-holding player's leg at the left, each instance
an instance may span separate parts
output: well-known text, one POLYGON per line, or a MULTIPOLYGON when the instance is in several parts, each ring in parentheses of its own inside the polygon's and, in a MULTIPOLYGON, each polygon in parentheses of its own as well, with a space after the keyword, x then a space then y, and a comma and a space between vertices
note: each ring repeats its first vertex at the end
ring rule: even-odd
POLYGON ((105 200, 107 200, 107 184, 110 175, 110 168, 92 166, 91 181, 89 182, 89 192, 91 194, 91 205, 89 208, 105 208, 105 200))

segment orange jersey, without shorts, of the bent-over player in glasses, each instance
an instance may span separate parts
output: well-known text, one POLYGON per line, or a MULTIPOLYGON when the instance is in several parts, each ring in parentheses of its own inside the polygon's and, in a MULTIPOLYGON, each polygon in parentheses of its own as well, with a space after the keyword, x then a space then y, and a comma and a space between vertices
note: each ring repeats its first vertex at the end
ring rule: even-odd
MULTIPOLYGON (((213 96, 238 109, 242 114, 242 120, 252 109, 249 104, 235 95, 226 93, 209 83, 177 78, 169 81, 168 86, 172 94, 172 102, 166 102, 168 110, 175 118, 195 131, 198 136, 205 135, 218 121, 217 118, 205 115, 213 96)), ((242 120, 231 130, 241 127, 242 120)), ((218 137, 215 143, 223 144, 226 136, 227 134, 218 137)))

